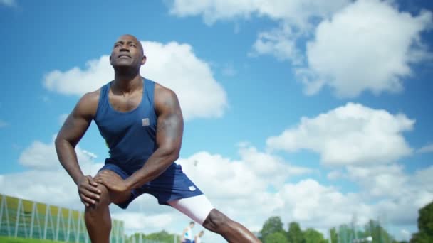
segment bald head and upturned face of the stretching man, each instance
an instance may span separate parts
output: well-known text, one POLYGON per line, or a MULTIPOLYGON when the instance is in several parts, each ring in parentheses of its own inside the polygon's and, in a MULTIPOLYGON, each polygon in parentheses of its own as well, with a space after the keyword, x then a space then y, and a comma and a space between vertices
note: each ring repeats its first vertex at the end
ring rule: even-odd
POLYGON ((140 68, 145 64, 142 46, 137 38, 130 35, 120 36, 113 45, 110 63, 113 67, 140 68))

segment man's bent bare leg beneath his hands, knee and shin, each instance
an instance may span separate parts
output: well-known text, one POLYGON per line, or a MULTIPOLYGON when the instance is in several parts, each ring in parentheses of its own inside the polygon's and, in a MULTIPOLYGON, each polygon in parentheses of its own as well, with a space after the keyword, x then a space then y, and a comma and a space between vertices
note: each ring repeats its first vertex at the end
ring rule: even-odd
MULTIPOLYGON (((118 174, 113 172, 113 176, 118 174)), ((98 184, 98 189, 101 191, 99 200, 95 205, 85 207, 84 220, 85 226, 89 233, 90 241, 93 243, 109 243, 111 231, 111 217, 108 206, 111 202, 124 202, 130 198, 130 192, 111 193, 105 185, 98 184)))

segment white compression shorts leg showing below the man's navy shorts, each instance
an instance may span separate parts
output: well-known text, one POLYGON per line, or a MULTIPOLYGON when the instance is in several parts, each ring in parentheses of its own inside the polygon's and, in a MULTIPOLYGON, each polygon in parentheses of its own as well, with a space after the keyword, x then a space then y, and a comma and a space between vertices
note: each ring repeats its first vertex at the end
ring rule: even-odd
POLYGON ((211 202, 209 202, 204 194, 191 198, 172 200, 167 203, 182 212, 184 215, 190 217, 199 225, 203 225, 203 222, 206 220, 209 212, 214 209, 214 206, 212 206, 211 202))

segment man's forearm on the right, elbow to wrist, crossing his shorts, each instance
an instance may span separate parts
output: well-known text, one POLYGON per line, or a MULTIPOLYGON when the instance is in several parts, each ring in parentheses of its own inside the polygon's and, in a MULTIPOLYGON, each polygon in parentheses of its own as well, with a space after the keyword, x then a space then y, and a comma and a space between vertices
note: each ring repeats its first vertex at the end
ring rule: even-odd
POLYGON ((179 158, 177 151, 158 148, 140 170, 136 171, 125 180, 127 188, 130 190, 139 188, 145 183, 154 180, 167 170, 177 158, 179 158))

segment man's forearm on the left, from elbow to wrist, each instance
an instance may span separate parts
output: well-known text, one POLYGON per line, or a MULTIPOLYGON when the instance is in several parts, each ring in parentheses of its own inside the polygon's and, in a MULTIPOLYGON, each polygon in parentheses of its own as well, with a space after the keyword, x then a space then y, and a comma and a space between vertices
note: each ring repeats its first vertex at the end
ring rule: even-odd
POLYGON ((83 171, 81 171, 78 165, 77 153, 75 148, 66 141, 65 139, 56 139, 56 152, 58 160, 60 161, 63 168, 71 176, 75 184, 78 184, 78 180, 83 177, 83 171))

